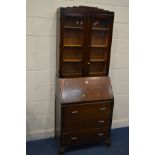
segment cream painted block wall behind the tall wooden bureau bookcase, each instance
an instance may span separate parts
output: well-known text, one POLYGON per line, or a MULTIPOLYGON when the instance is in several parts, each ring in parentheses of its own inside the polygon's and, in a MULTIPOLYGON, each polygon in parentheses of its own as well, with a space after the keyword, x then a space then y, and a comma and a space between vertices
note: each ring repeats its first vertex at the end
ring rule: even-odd
POLYGON ((27 140, 54 136, 56 9, 94 6, 115 12, 110 77, 113 128, 128 126, 128 0, 27 0, 27 140))

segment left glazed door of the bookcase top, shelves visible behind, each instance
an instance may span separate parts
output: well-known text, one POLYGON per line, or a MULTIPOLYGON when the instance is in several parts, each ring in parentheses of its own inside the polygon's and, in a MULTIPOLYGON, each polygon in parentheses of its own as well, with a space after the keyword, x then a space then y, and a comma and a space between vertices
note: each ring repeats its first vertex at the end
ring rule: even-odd
POLYGON ((62 77, 78 77, 83 74, 83 53, 85 49, 85 23, 82 14, 63 17, 62 77))

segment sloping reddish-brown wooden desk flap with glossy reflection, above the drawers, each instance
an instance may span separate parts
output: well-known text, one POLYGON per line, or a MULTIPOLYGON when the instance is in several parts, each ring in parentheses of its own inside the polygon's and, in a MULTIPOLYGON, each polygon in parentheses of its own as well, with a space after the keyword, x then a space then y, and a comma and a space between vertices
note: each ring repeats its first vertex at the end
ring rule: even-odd
POLYGON ((80 77, 60 79, 61 103, 113 99, 109 77, 80 77))

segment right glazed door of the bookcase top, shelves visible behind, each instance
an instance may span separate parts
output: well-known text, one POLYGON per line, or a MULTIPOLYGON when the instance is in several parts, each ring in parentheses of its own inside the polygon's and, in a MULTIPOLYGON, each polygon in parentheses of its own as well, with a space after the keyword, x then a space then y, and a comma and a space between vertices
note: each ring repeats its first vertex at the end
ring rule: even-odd
POLYGON ((88 75, 107 75, 110 59, 112 20, 104 15, 90 18, 88 75))

